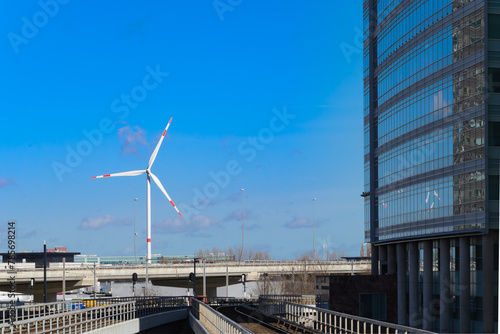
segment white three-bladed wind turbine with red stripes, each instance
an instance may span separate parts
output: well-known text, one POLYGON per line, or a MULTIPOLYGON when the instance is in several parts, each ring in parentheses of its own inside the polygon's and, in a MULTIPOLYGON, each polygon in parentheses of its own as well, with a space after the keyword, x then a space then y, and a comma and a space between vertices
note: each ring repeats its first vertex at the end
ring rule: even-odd
POLYGON ((172 118, 170 118, 170 121, 168 121, 167 127, 165 128, 165 131, 163 131, 163 134, 161 135, 160 141, 158 142, 158 144, 156 144, 155 150, 153 151, 151 158, 149 158, 149 164, 148 164, 148 168, 146 170, 133 170, 130 172, 106 174, 106 175, 99 175, 99 176, 91 177, 91 179, 98 179, 98 178, 102 178, 102 177, 112 177, 112 176, 137 176, 137 175, 141 175, 144 173, 146 173, 146 175, 148 176, 148 178, 147 178, 147 180, 148 180, 147 181, 147 197, 146 197, 147 222, 148 222, 148 240, 147 240, 148 241, 147 262, 148 263, 151 263, 151 179, 153 179, 153 181, 156 183, 158 188, 160 188, 160 190, 165 194, 165 196, 167 196, 168 200, 170 201, 170 203, 174 207, 175 211, 177 211, 177 213, 182 218, 182 214, 179 212, 179 209, 177 209, 177 207, 175 206, 175 204, 172 201, 172 199, 170 198, 170 196, 168 196, 167 191, 165 190, 165 188, 163 188, 160 180, 156 177, 156 175, 154 175, 151 172, 151 167, 153 166, 153 163, 155 162, 156 155, 158 154, 158 150, 160 149, 161 143, 162 143, 163 139, 165 138, 165 134, 167 133, 168 127, 170 126, 170 122, 172 122, 172 118))

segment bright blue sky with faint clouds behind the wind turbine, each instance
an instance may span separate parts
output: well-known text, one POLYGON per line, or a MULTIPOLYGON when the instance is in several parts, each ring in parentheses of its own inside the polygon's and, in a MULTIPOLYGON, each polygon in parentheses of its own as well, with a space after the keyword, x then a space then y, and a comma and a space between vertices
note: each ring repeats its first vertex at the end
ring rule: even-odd
MULTIPOLYGON (((4 1, 0 245, 164 255, 241 245, 292 259, 363 242, 358 1, 4 1)), ((4 246, 6 249, 6 246, 4 246)))

